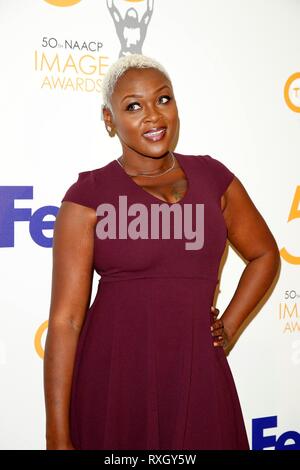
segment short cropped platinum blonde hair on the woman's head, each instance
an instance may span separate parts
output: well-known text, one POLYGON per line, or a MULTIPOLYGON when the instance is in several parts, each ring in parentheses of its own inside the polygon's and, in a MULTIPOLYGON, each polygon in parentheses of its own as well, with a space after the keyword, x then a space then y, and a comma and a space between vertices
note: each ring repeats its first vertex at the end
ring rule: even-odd
POLYGON ((102 82, 102 107, 111 109, 111 96, 119 78, 128 69, 145 69, 154 68, 162 72, 165 77, 171 82, 170 76, 166 69, 152 57, 145 56, 143 54, 130 54, 125 57, 121 57, 114 62, 108 69, 103 82, 102 82))

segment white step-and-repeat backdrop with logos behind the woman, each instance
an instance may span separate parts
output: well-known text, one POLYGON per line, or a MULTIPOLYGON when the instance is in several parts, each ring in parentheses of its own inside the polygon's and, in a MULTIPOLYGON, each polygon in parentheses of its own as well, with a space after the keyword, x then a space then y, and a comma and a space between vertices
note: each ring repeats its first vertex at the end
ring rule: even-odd
MULTIPOLYGON (((136 52, 172 77, 176 150, 227 165, 280 247, 278 282, 228 361, 251 447, 300 449, 299 19, 295 0, 0 0, 2 449, 45 448, 55 216, 78 172, 121 155, 101 84, 136 52)), ((221 311, 244 267, 230 246, 221 311)))

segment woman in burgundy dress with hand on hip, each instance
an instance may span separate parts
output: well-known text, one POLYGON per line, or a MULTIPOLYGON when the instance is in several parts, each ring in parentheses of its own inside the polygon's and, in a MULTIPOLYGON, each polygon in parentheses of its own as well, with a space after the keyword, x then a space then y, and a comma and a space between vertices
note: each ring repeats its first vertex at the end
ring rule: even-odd
POLYGON ((174 153, 178 111, 158 62, 119 59, 103 100, 122 156, 79 173, 55 224, 47 449, 249 449, 224 348, 277 273, 274 237, 224 164, 174 153), (217 319, 227 238, 248 263, 217 319))

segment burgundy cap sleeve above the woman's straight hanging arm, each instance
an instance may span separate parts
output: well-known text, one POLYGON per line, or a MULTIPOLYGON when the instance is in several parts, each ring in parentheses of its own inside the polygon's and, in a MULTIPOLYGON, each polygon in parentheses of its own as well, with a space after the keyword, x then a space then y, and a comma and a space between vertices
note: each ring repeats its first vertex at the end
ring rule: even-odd
POLYGON ((92 170, 82 171, 78 173, 78 179, 73 183, 61 202, 70 201, 82 206, 90 207, 96 210, 97 204, 95 204, 95 192, 94 192, 94 175, 92 170))

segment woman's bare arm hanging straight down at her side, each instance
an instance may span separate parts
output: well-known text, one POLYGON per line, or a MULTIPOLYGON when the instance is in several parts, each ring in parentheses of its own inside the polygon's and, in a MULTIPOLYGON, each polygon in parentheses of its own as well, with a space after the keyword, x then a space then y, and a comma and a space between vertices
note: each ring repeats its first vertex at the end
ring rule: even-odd
POLYGON ((47 450, 73 448, 70 393, 76 347, 91 298, 95 223, 93 209, 67 201, 55 222, 44 356, 47 450))

